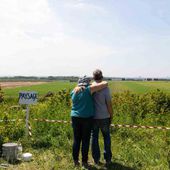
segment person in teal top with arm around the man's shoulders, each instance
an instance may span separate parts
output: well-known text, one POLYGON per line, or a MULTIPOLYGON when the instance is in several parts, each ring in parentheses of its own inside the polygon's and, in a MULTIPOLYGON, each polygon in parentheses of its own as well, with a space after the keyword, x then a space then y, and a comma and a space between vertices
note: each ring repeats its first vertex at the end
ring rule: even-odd
POLYGON ((71 120, 74 136, 72 156, 75 166, 80 164, 79 151, 81 144, 82 165, 88 166, 88 151, 94 117, 92 94, 108 86, 105 81, 93 85, 90 84, 90 81, 91 79, 86 76, 80 78, 78 80, 79 92, 76 92, 76 89, 71 92, 71 120))

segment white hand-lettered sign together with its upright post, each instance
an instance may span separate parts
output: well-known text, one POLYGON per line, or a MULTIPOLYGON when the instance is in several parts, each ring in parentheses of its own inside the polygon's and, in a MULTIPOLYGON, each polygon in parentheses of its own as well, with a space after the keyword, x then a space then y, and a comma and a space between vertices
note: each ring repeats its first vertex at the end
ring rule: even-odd
POLYGON ((22 91, 19 92, 19 104, 26 104, 26 136, 29 133, 29 105, 37 103, 37 92, 34 91, 22 91))

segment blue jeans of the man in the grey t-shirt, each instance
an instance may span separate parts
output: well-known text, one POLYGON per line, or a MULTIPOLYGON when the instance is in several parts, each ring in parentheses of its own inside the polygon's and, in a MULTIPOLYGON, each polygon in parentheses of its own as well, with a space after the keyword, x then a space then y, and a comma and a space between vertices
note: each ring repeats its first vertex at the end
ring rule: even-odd
POLYGON ((106 162, 109 162, 112 158, 110 119, 94 119, 93 121, 92 156, 96 163, 100 160, 99 129, 101 130, 104 139, 104 159, 106 160, 106 162))

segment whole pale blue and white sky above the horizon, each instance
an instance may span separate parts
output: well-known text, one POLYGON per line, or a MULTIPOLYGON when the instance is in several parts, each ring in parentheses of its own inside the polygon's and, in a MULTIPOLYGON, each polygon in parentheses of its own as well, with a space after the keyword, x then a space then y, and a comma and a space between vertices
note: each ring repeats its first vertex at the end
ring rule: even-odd
POLYGON ((170 77, 169 0, 1 0, 0 76, 170 77))

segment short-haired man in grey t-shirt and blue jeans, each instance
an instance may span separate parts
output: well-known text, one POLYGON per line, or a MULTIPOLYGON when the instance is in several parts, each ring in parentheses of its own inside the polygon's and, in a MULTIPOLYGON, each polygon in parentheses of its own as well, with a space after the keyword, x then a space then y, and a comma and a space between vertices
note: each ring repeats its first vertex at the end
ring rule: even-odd
MULTIPOLYGON (((96 69, 93 72, 94 84, 100 83, 103 79, 102 71, 96 69)), ((113 109, 109 88, 104 88, 93 95, 95 115, 92 129, 92 156, 95 164, 100 161, 99 130, 101 130, 104 140, 104 159, 106 165, 111 163, 111 138, 110 123, 113 117, 113 109)))

